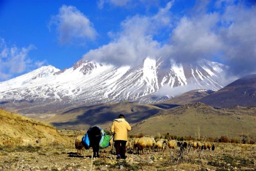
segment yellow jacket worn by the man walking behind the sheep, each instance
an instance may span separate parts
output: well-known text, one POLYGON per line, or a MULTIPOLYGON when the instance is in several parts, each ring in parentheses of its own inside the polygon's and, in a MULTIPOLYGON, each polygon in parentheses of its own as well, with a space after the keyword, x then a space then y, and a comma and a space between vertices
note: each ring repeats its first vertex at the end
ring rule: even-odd
POLYGON ((115 133, 114 141, 115 140, 127 141, 127 130, 130 131, 131 126, 125 120, 125 118, 115 119, 112 126, 111 126, 111 132, 115 133))

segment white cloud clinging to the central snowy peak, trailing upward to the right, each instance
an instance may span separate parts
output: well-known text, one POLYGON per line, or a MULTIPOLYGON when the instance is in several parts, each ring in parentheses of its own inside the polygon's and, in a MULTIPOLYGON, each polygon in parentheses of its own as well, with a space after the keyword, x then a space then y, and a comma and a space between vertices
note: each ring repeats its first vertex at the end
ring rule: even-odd
POLYGON ((84 59, 115 65, 129 65, 142 62, 147 56, 155 58, 160 43, 153 39, 162 27, 170 26, 168 17, 172 3, 160 8, 153 16, 135 15, 121 23, 121 32, 108 33, 113 40, 98 49, 90 50, 84 59))

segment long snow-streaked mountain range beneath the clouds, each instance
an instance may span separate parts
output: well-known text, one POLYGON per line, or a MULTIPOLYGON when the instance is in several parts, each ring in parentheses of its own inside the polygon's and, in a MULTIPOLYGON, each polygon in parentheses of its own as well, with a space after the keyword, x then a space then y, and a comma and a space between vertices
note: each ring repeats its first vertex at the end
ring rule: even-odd
POLYGON ((0 103, 31 105, 92 105, 132 100, 159 101, 162 86, 192 84, 198 89, 218 90, 223 64, 202 59, 194 64, 163 65, 161 59, 147 57, 137 66, 113 66, 79 60, 73 67, 59 70, 42 66, 27 74, 0 82, 0 103))

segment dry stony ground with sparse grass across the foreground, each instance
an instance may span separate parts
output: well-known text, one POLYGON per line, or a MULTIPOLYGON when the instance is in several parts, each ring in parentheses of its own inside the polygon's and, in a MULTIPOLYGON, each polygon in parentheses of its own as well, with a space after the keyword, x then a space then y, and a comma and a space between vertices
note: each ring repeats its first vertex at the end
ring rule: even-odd
MULTIPOLYGON (((215 144, 215 151, 167 149, 116 160, 101 152, 93 159, 93 171, 256 171, 256 145, 215 144)), ((89 171, 92 150, 79 156, 74 147, 0 147, 0 171, 89 171)))

